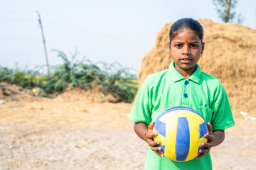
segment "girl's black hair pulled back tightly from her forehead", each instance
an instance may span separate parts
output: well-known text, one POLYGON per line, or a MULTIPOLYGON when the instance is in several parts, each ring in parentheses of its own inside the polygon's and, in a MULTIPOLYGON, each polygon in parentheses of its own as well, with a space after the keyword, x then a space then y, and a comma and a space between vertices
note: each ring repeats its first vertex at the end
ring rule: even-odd
POLYGON ((184 29, 193 30, 198 34, 201 42, 203 42, 203 27, 201 24, 193 18, 181 18, 171 26, 169 33, 170 43, 171 40, 173 40, 175 36, 184 29))

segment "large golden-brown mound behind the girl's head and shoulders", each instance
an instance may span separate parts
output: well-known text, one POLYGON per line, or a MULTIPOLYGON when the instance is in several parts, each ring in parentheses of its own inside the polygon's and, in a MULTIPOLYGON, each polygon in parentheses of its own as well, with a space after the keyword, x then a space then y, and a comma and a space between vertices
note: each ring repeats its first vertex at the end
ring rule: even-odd
MULTIPOLYGON (((256 115, 256 30, 234 23, 198 20, 204 29, 206 48, 198 64, 201 71, 218 78, 225 87, 233 113, 256 115)), ((169 67, 169 29, 159 31, 153 49, 142 60, 139 84, 149 74, 169 67)))

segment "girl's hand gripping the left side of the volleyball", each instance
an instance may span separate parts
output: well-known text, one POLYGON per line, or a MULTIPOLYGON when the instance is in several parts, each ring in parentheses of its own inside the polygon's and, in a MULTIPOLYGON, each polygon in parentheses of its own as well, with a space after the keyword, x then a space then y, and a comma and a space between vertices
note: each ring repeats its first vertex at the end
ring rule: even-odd
POLYGON ((157 136, 157 132, 153 132, 154 122, 149 123, 149 129, 145 134, 145 141, 149 144, 149 147, 159 156, 164 157, 164 154, 161 154, 159 151, 161 150, 161 147, 156 147, 156 145, 159 145, 160 141, 154 141, 153 137, 157 136))

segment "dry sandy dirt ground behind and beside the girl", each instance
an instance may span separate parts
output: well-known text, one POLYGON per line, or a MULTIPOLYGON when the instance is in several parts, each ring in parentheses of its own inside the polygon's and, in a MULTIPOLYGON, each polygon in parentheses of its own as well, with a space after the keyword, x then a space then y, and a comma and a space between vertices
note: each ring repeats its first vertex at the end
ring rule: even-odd
MULTIPOLYGON (((88 94, 0 104, 0 169, 144 169, 147 145, 127 119, 132 104, 88 94)), ((255 169, 256 121, 235 115, 211 149, 213 169, 255 169)))

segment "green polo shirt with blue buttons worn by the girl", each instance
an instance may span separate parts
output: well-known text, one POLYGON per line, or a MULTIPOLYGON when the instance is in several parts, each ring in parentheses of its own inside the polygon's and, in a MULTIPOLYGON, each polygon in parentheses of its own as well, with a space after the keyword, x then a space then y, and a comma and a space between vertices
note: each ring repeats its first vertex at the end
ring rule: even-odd
MULTIPOLYGON (((215 77, 196 71, 185 79, 171 62, 169 69, 149 75, 134 101, 129 119, 147 125, 174 106, 186 106, 201 113, 213 130, 225 130, 235 125, 228 96, 223 85, 215 77)), ((157 156, 149 147, 145 169, 212 169, 210 154, 188 162, 174 162, 157 156)))

